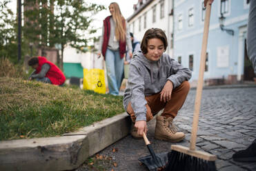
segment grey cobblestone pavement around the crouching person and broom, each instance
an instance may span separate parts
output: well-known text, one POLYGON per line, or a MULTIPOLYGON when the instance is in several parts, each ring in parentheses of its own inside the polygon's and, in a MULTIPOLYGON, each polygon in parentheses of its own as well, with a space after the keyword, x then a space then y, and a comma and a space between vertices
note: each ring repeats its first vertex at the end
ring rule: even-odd
MULTIPOLYGON (((175 118, 179 130, 186 133, 186 139, 177 144, 186 147, 189 147, 195 93, 195 90, 190 90, 184 106, 175 118)), ((148 139, 154 151, 170 151, 170 145, 175 143, 154 138, 155 119, 148 122, 148 129, 148 139)), ((256 162, 242 163, 232 159, 234 152, 247 148, 256 139, 256 87, 203 90, 197 135, 197 150, 216 154, 217 170, 256 170, 256 162)), ((132 139, 130 135, 99 154, 112 157, 118 164, 116 168, 111 168, 113 170, 147 170, 138 159, 148 155, 148 149, 143 140, 132 139), (117 151, 112 152, 113 148, 117 151)))

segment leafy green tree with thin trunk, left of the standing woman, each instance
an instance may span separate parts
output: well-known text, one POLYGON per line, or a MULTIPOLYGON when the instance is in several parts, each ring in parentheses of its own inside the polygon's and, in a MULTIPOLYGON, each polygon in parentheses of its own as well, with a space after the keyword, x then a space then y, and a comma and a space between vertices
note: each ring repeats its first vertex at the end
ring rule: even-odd
MULTIPOLYGON (((24 1, 31 6, 34 0, 24 1)), ((34 5, 35 6, 35 5, 34 5)), ((39 6, 26 10, 26 24, 23 28, 26 39, 37 42, 39 47, 61 47, 60 68, 63 67, 63 50, 69 45, 83 51, 92 38, 88 34, 96 32, 90 26, 92 15, 104 6, 86 3, 83 0, 39 0, 39 6), (54 10, 53 10, 54 9, 54 10)))

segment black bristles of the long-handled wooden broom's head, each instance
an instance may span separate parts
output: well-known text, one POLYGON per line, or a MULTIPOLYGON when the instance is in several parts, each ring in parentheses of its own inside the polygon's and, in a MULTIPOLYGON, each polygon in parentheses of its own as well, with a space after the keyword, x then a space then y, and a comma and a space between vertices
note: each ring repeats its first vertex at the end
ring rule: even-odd
POLYGON ((168 154, 168 163, 165 170, 216 171, 217 169, 215 161, 206 161, 172 150, 168 154))

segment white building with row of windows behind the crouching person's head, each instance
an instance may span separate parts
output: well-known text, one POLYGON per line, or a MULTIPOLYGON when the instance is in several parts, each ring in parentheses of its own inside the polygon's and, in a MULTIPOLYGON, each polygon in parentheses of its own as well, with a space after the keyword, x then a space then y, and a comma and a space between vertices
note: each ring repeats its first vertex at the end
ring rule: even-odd
POLYGON ((149 28, 161 28, 166 33, 168 48, 173 54, 173 3, 170 0, 138 0, 134 13, 127 19, 130 32, 139 41, 149 28))

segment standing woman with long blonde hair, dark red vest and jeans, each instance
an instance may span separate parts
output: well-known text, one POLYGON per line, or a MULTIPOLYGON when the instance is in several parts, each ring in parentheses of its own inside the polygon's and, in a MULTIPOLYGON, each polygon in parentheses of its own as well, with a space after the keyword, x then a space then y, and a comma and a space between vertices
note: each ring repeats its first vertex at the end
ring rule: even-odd
POLYGON ((106 61, 109 93, 118 95, 124 72, 126 44, 130 57, 132 57, 132 44, 128 23, 121 14, 118 4, 112 2, 108 9, 111 15, 104 19, 102 36, 99 40, 101 52, 98 52, 98 55, 102 53, 106 61))

